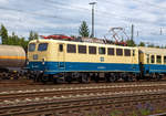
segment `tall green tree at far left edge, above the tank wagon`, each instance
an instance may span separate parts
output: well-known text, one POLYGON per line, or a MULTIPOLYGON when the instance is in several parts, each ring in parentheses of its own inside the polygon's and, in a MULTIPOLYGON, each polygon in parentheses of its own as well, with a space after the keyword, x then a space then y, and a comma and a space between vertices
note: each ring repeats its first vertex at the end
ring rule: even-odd
POLYGON ((1 24, 0 35, 2 39, 2 44, 8 44, 8 30, 3 24, 1 24))

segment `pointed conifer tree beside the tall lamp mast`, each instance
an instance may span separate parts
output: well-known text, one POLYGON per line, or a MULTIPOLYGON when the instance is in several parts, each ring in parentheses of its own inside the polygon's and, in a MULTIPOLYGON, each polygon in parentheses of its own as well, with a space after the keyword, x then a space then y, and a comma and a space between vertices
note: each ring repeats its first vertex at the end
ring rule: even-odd
POLYGON ((87 38, 90 35, 89 27, 86 21, 82 21, 81 27, 79 28, 79 34, 83 38, 87 38))

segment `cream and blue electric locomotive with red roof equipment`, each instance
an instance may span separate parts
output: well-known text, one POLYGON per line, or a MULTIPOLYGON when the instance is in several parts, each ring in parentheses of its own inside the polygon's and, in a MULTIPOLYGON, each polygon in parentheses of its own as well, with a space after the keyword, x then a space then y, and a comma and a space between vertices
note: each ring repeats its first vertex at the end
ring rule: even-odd
POLYGON ((132 81, 139 77, 138 48, 60 40, 29 43, 28 68, 38 81, 132 81))

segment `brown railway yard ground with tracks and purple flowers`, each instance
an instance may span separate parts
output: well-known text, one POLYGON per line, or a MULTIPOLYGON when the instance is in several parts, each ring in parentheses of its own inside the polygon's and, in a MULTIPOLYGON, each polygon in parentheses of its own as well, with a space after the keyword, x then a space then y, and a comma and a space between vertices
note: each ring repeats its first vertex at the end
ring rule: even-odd
POLYGON ((45 85, 25 78, 0 81, 0 116, 165 116, 165 112, 166 81, 45 85))

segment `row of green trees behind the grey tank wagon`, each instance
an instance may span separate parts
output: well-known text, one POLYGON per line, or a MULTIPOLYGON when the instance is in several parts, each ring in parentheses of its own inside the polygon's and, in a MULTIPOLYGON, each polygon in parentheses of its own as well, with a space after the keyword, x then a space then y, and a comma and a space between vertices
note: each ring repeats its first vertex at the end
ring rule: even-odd
POLYGON ((0 36, 1 36, 1 44, 21 45, 25 51, 28 49, 29 41, 39 38, 38 33, 33 31, 30 31, 28 40, 24 36, 18 36, 14 32, 12 32, 12 34, 9 35, 8 30, 3 24, 1 24, 0 28, 0 36))

